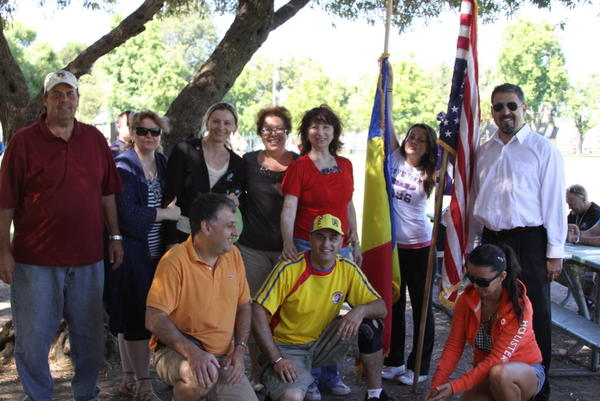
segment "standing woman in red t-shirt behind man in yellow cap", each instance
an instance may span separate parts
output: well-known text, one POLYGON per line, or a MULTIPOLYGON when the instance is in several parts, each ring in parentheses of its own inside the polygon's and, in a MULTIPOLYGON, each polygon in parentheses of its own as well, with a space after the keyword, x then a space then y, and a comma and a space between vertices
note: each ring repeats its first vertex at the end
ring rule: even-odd
MULTIPOLYGON (((290 164, 282 182, 281 211, 283 260, 296 258, 310 249, 309 233, 315 217, 329 213, 342 221, 344 245, 340 254, 360 265, 362 255, 352 203, 354 179, 352 163, 337 156, 341 148, 342 124, 327 106, 315 107, 302 117, 301 157, 290 164)), ((315 382, 306 393, 307 400, 320 400, 318 386, 335 395, 348 395, 350 387, 342 382, 336 365, 313 369, 315 382)))

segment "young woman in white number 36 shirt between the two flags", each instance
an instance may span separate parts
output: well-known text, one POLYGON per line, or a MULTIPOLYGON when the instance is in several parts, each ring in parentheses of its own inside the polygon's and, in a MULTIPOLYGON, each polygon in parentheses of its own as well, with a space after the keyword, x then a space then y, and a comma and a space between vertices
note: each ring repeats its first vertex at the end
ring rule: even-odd
MULTIPOLYGON (((432 227, 425 210, 435 187, 435 131, 426 124, 414 124, 408 129, 400 146, 395 135, 392 135, 391 145, 392 210, 400 261, 400 297, 392 306, 392 341, 381 376, 384 379, 397 378, 400 383, 412 385, 431 244, 432 227), (412 305, 413 343, 405 364, 407 288, 412 305)), ((427 380, 433 353, 435 333, 431 299, 426 319, 419 382, 427 380)))

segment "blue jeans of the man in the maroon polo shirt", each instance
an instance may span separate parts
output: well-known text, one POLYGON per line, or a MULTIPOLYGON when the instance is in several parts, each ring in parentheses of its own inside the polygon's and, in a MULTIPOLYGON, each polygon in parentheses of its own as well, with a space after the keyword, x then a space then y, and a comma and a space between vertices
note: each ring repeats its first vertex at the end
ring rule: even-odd
POLYGON ((11 287, 15 361, 25 400, 52 401, 48 352, 61 319, 67 321, 75 401, 97 400, 104 359, 104 263, 74 267, 17 263, 11 287))

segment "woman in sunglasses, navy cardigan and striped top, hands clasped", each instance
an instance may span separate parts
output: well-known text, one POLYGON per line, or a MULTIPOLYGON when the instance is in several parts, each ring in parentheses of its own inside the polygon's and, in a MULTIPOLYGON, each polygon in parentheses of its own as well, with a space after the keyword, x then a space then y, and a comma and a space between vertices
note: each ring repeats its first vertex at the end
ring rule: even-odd
POLYGON ((146 297, 164 251, 161 224, 176 221, 180 211, 174 201, 161 207, 167 159, 157 149, 167 121, 145 110, 130 117, 129 127, 132 144, 115 159, 123 183, 116 200, 124 257, 123 264, 109 272, 109 324, 119 343, 121 392, 139 401, 159 401, 148 372, 146 297))

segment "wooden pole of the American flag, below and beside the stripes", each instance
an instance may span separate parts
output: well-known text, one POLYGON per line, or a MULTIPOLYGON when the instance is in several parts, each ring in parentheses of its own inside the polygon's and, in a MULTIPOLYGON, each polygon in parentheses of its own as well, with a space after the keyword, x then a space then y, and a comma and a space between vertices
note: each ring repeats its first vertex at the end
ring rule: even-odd
POLYGON ((431 287, 433 281, 434 263, 437 262, 437 237, 440 230, 440 218, 442 214, 442 200, 444 198, 444 187, 446 184, 446 170, 448 167, 448 150, 442 147, 442 165, 440 168, 439 184, 435 191, 435 206, 433 217, 433 231, 431 233, 431 245, 429 245, 429 257, 427 259, 427 276, 425 278, 425 288, 423 291, 423 304, 421 307, 421 319, 419 319, 419 341, 417 342, 417 356, 415 359, 414 379, 412 392, 417 391, 419 376, 421 375, 421 358, 423 357, 423 343, 425 341, 425 325, 427 323, 427 311, 429 309, 429 300, 431 298, 431 287))

